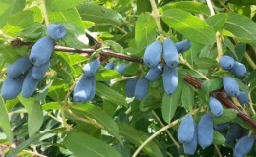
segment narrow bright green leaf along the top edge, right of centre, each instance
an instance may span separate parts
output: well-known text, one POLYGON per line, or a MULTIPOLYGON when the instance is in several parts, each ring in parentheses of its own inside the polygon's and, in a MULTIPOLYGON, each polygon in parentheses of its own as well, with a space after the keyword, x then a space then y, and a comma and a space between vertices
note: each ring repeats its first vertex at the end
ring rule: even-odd
POLYGON ((199 2, 182 1, 182 2, 168 3, 167 5, 162 7, 162 9, 163 10, 180 9, 192 14, 204 14, 206 16, 210 15, 209 8, 205 4, 199 3, 199 2))

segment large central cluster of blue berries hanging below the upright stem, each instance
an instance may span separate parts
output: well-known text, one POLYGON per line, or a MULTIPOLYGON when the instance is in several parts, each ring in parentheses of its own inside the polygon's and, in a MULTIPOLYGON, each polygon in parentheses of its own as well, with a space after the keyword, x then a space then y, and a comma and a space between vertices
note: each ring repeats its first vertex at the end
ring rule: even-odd
POLYGON ((148 94, 149 81, 155 81, 161 75, 165 92, 173 94, 178 86, 178 53, 188 50, 190 46, 188 40, 174 44, 170 39, 165 39, 163 43, 155 41, 147 46, 143 62, 150 69, 144 78, 127 80, 125 87, 127 97, 143 99, 148 94), (161 58, 164 63, 161 62, 161 58))

